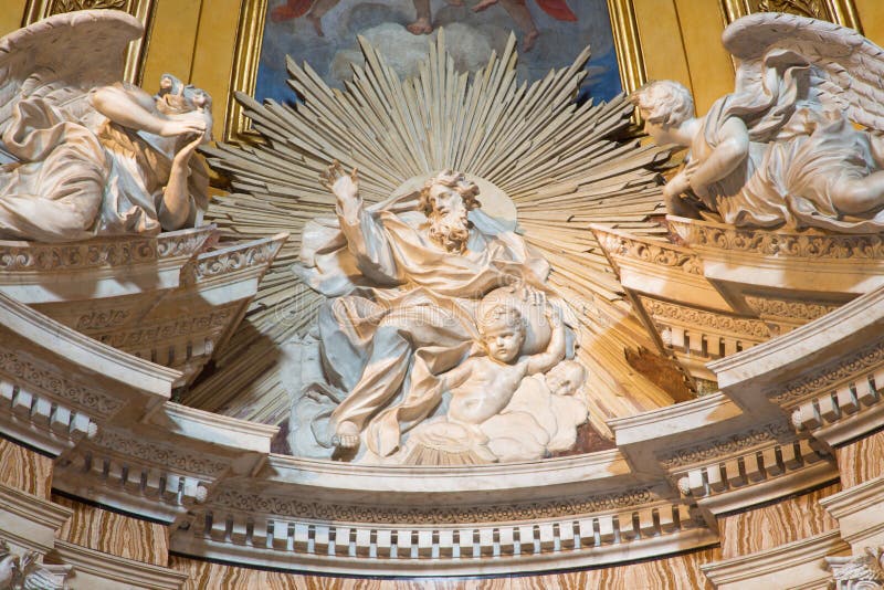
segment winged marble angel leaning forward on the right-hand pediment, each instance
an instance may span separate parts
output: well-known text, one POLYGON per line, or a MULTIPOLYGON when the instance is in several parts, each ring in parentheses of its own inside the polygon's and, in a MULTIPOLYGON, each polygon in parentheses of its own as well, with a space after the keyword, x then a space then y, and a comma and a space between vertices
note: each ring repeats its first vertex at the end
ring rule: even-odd
POLYGON ((664 188, 669 212, 740 228, 884 230, 884 52, 851 29, 779 13, 740 19, 723 40, 738 60, 736 89, 705 117, 675 82, 632 97, 657 144, 691 149, 664 188))

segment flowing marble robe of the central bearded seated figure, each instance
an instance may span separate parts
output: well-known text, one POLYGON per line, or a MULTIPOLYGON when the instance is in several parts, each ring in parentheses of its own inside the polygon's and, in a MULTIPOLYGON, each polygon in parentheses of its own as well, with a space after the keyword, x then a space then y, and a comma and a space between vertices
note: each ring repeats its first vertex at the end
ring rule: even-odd
POLYGON ((463 254, 430 240, 417 209, 409 194, 360 204, 350 219, 338 211, 313 220, 295 268, 335 297, 319 314, 323 367, 347 392, 332 421, 367 423, 366 443, 380 456, 439 405, 435 376, 471 354, 478 301, 504 285, 540 285, 549 274, 520 236, 478 209, 470 212, 463 254))

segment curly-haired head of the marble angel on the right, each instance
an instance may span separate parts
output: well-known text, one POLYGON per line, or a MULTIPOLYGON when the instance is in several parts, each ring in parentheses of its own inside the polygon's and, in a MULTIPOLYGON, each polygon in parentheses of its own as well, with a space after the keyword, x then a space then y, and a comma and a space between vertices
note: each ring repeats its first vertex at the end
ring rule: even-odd
POLYGON ((644 130, 657 144, 682 144, 673 134, 694 116, 694 98, 684 85, 672 80, 650 82, 633 92, 630 102, 644 119, 644 130))

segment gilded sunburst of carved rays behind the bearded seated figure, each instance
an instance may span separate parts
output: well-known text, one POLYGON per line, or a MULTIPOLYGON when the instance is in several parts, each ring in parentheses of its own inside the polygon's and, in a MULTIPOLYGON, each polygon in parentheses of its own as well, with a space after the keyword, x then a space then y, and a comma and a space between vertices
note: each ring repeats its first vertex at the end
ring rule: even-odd
POLYGON ((354 67, 344 91, 290 59, 290 85, 302 99, 297 106, 261 105, 238 95, 264 141, 208 150, 211 165, 230 175, 233 191, 213 203, 212 221, 240 239, 280 231, 292 238, 220 351, 217 370, 185 402, 262 422, 287 418, 276 345, 304 333, 320 304, 290 267, 303 224, 333 211, 319 172, 339 160, 359 169, 367 201, 386 199, 406 180, 443 168, 503 189, 526 238, 552 264, 552 285, 579 312, 580 359, 593 373, 596 428, 608 433, 609 418, 672 403, 625 361, 624 348, 652 343, 589 231, 590 223, 603 222, 638 234, 662 233, 652 220, 663 212, 652 169, 669 152, 617 139, 630 127, 625 97, 575 104, 589 50, 571 66, 526 84, 516 76, 515 38, 469 76, 456 70, 441 32, 420 73, 407 80, 365 40, 360 45, 365 66, 354 67))

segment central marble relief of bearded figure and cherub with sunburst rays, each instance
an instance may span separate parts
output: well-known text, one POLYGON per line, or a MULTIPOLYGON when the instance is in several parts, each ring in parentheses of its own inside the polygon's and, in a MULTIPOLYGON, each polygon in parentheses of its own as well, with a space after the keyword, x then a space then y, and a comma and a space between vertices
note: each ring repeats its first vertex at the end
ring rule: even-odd
POLYGON ((272 384, 233 393, 227 382, 273 343, 274 365, 254 381, 285 391, 294 455, 538 460, 572 447, 587 420, 593 352, 581 333, 611 276, 580 260, 589 219, 652 230, 650 168, 669 150, 617 139, 632 113, 623 96, 575 104, 588 50, 527 85, 515 38, 473 76, 444 43, 443 31, 422 73, 402 80, 362 41, 367 65, 345 91, 290 61, 294 106, 238 96, 262 141, 207 150, 234 192, 212 221, 293 240, 248 318, 262 337, 234 336, 230 362, 200 388, 228 409, 239 397, 271 412, 272 384), (629 214, 613 211, 618 196, 629 214), (575 214, 587 217, 569 242, 575 214))

